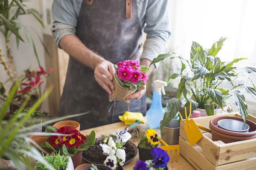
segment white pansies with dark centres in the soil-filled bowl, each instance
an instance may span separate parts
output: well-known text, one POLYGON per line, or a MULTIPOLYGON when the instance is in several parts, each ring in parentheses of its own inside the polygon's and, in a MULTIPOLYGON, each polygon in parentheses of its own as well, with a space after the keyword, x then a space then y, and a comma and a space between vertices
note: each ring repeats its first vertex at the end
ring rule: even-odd
POLYGON ((104 137, 104 144, 100 144, 103 154, 107 156, 104 165, 111 169, 117 169, 118 166, 123 166, 125 162, 124 144, 119 135, 120 131, 113 132, 110 136, 104 137))

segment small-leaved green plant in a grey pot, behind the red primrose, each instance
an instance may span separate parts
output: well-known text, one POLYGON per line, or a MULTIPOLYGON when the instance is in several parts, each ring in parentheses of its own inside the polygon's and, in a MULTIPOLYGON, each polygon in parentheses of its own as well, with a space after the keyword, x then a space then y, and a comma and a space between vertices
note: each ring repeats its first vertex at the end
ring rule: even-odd
MULTIPOLYGON (((27 108, 23 108, 21 109, 20 111, 20 116, 17 118, 17 122, 20 121, 21 117, 25 116, 26 114, 28 114, 28 112, 30 111, 30 107, 27 107, 27 108)), ((10 118, 12 118, 15 114, 17 114, 19 111, 16 110, 15 112, 13 112, 11 115, 10 115, 10 118)), ((35 124, 39 124, 39 126, 35 127, 35 128, 32 128, 32 129, 29 129, 28 131, 29 132, 42 132, 42 117, 44 116, 43 112, 40 112, 38 110, 34 110, 32 109, 32 114, 31 116, 28 118, 27 122, 25 123, 25 126, 28 127, 28 126, 32 126, 32 125, 35 125, 35 124)), ((28 131, 24 131, 23 133, 27 133, 28 131)))

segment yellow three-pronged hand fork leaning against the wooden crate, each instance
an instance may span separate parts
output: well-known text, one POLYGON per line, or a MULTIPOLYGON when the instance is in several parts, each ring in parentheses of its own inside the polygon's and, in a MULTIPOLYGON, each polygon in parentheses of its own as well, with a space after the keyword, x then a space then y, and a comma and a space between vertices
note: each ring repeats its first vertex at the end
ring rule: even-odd
POLYGON ((187 117, 186 107, 185 107, 185 115, 186 115, 185 120, 182 118, 181 114, 180 114, 180 118, 181 118, 182 122, 186 122, 186 124, 184 125, 184 129, 185 129, 186 135, 188 137, 188 142, 189 142, 190 146, 193 146, 194 144, 196 144, 196 142, 198 142, 203 137, 203 134, 200 131, 200 129, 197 127, 197 125, 193 119, 188 120, 188 118, 191 115, 191 102, 190 102, 190 108, 189 108, 189 115, 187 117))

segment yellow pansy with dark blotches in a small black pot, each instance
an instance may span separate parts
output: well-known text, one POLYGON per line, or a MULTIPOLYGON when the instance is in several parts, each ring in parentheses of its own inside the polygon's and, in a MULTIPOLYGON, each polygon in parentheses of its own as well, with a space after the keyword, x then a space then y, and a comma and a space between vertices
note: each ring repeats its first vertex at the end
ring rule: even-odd
POLYGON ((150 153, 152 148, 157 148, 159 145, 159 139, 156 131, 153 129, 148 129, 145 135, 138 137, 140 143, 137 148, 139 149, 140 160, 150 160, 154 159, 150 153))

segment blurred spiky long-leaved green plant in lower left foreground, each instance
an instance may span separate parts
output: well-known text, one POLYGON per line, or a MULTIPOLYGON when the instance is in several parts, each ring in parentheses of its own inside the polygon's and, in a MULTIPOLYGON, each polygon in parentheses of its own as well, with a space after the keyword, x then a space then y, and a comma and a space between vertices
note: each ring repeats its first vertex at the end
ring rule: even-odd
MULTIPOLYGON (((8 106, 12 101, 12 98, 15 96, 18 87, 20 86, 20 82, 21 82, 20 78, 18 78, 17 81, 15 81, 14 85, 10 89, 9 95, 7 96, 6 100, 2 102, 2 107, 0 109, 0 134, 1 134, 0 135, 0 159, 8 158, 12 160, 12 162, 14 163, 17 169, 22 170, 24 168, 34 169, 32 165, 33 161, 31 162, 30 160, 31 158, 33 158, 43 163, 50 170, 54 170, 54 168, 49 163, 47 163, 47 161, 44 159, 41 152, 39 152, 40 150, 43 151, 43 149, 40 146, 38 146, 33 140, 29 139, 28 136, 30 135, 42 135, 42 136, 61 135, 61 134, 38 133, 38 132, 21 133, 31 128, 37 127, 39 125, 38 123, 34 123, 31 126, 25 126, 29 117, 31 117, 31 115, 33 114, 33 110, 36 110, 36 108, 50 94, 50 92, 53 89, 52 86, 50 86, 45 91, 45 93, 36 101, 36 103, 31 107, 32 109, 29 109, 26 115, 22 114, 21 111, 23 110, 24 106, 27 104, 29 97, 31 95, 28 95, 28 98, 21 105, 20 109, 16 111, 16 114, 14 114, 8 120, 3 120, 8 106), (18 122, 16 121, 17 118, 19 118, 18 122), (23 142, 21 142, 21 139, 23 142), (33 143, 33 145, 31 143, 33 143), (13 147, 13 145, 15 146, 13 147), (25 167, 21 165, 24 165, 25 167)), ((86 113, 56 118, 56 119, 45 121, 42 124, 46 125, 46 124, 60 121, 69 117, 74 117, 74 116, 79 116, 84 114, 86 113)), ((0 168, 1 168, 1 164, 0 164, 0 168)))

